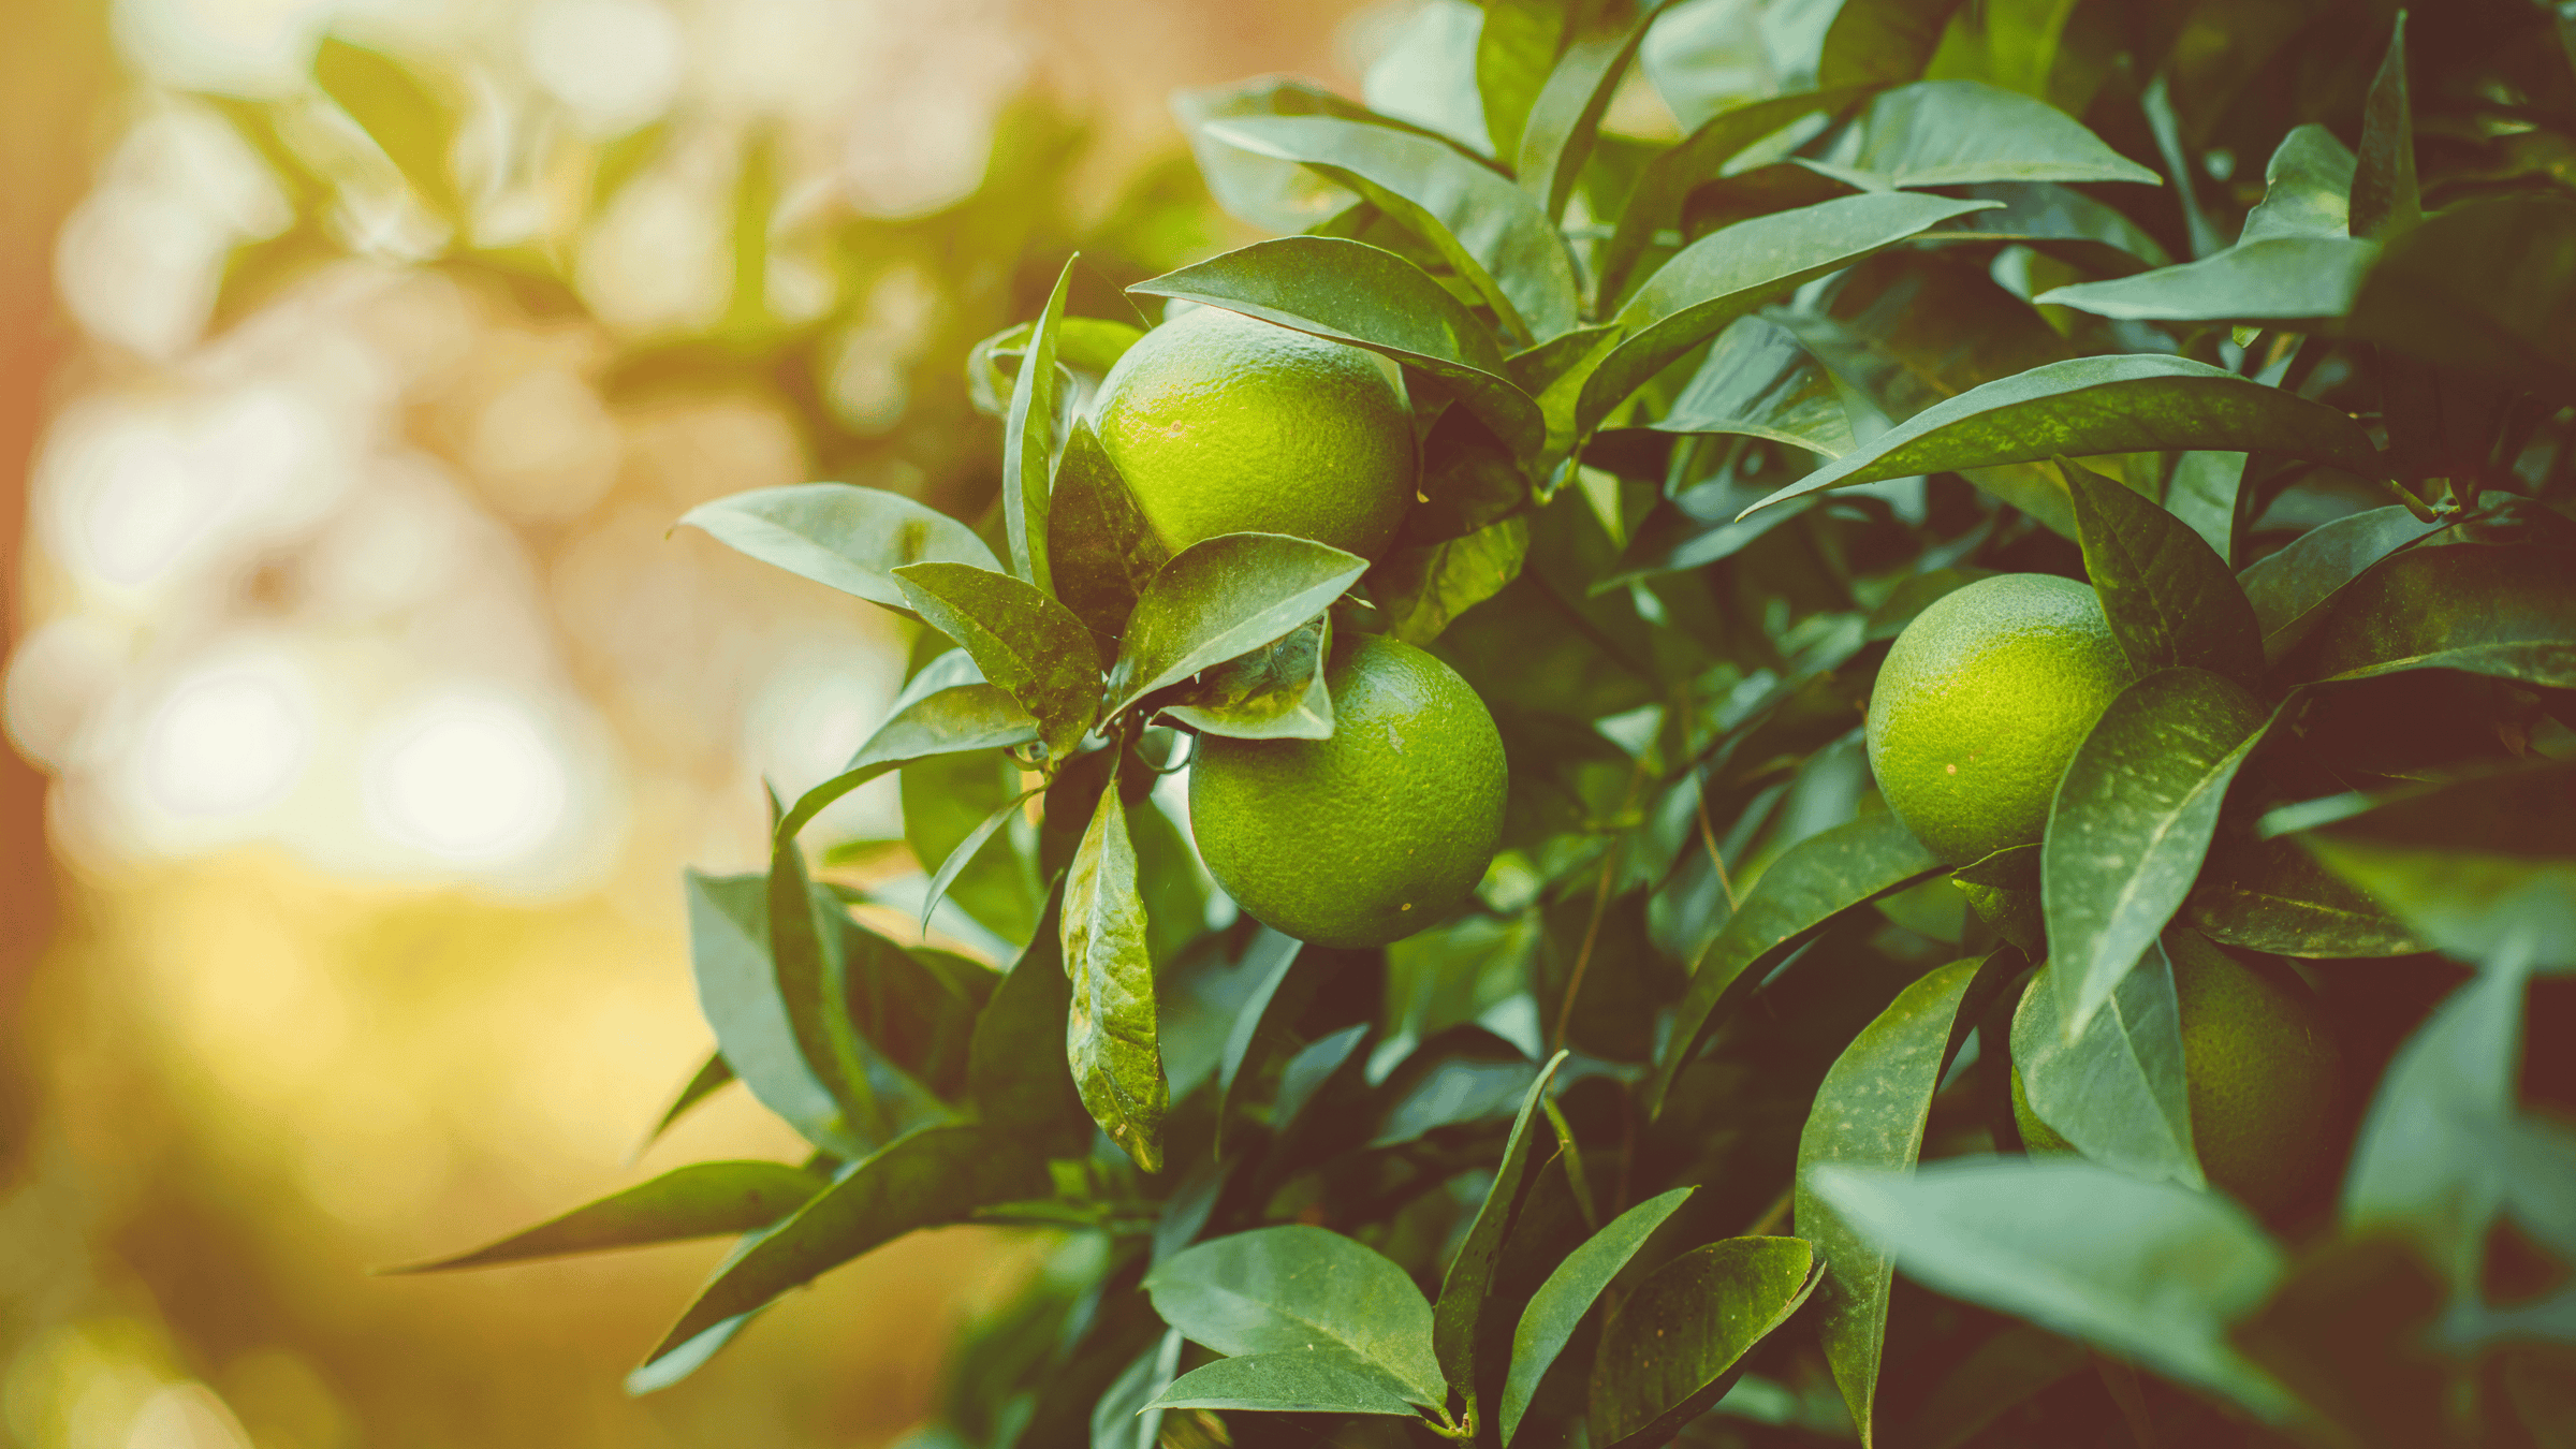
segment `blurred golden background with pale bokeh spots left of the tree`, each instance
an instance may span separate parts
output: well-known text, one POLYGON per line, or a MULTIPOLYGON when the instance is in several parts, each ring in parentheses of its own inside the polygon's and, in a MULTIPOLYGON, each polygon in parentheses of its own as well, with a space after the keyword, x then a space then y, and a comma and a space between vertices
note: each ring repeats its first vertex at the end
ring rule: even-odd
MULTIPOLYGON (((1167 93, 1360 95, 1461 15, 10 5, 0 1441, 914 1426, 1048 1243, 914 1235, 647 1397, 621 1377, 721 1243, 368 1269, 801 1155, 732 1091, 636 1158, 711 1042, 677 879, 757 869, 760 781, 832 773, 909 639, 672 521, 822 477, 981 516, 966 348, 1066 250, 1103 312, 1249 240, 1167 93)), ((868 789, 809 838, 899 835, 868 789)))

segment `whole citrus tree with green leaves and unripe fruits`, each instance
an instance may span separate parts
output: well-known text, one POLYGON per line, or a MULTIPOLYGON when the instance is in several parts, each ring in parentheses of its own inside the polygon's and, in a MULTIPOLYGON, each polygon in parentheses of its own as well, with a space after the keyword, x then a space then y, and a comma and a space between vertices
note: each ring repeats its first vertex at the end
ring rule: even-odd
POLYGON ((1182 95, 1280 235, 958 358, 989 508, 683 518, 920 629, 685 884, 670 1116, 814 1155, 438 1266, 739 1235, 652 1390, 1061 1230, 927 1444, 2568 1444, 2571 52, 1489 0, 1182 95), (881 776, 1015 959, 853 915, 881 776))

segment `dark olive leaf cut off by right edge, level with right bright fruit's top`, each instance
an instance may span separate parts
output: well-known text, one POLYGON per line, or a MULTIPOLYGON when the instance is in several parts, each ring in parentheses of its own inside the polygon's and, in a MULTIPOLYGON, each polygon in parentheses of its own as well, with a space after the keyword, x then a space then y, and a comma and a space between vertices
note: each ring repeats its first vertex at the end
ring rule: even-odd
MULTIPOLYGON (((2427 222, 2429 227, 2432 222, 2427 222)), ((2576 549, 2406 549, 2352 580, 2282 660, 2290 681, 2468 670, 2576 688, 2576 549)))

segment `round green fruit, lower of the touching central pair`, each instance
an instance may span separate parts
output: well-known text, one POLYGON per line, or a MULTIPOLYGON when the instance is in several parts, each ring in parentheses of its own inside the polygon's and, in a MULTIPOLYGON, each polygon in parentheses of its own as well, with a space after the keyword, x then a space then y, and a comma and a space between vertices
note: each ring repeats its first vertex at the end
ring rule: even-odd
POLYGON ((1319 946, 1383 946, 1437 923, 1502 835, 1502 735, 1432 655, 1334 639, 1327 740, 1198 737, 1190 830, 1257 920, 1319 946))

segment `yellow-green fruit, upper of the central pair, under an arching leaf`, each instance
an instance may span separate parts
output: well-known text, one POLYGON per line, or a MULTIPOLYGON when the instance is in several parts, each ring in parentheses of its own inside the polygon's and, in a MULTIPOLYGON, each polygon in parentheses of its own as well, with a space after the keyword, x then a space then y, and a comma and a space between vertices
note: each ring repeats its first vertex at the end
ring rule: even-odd
POLYGON ((1154 327, 1100 379, 1100 446, 1172 549, 1293 534, 1360 557, 1414 500, 1414 425, 1376 356, 1239 312, 1154 327))

